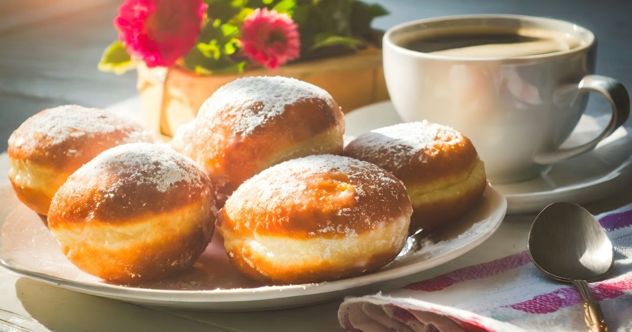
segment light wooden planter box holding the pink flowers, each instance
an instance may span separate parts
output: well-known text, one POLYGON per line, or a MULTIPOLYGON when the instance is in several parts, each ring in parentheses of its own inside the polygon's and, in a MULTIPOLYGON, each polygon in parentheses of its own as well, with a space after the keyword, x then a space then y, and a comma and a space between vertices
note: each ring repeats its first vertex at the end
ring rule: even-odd
POLYGON ((197 115, 198 108, 222 85, 243 76, 288 76, 329 91, 343 112, 388 99, 382 51, 315 60, 241 74, 197 76, 176 67, 138 66, 138 92, 147 129, 172 137, 178 127, 197 115))

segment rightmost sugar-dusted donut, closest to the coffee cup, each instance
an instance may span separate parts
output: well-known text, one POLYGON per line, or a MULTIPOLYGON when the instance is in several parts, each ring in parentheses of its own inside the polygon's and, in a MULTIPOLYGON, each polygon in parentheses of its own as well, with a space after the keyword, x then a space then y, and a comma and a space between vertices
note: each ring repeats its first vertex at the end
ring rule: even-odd
POLYGON ((344 155, 374 163, 403 181, 413 203, 410 232, 445 225, 485 191, 485 166, 470 139, 435 123, 399 123, 360 135, 344 155))

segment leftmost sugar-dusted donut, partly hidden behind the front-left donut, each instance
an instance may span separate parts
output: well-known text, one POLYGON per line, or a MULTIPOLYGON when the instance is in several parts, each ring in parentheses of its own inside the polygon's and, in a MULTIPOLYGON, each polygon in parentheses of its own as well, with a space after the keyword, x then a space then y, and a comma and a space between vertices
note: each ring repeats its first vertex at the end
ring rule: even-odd
POLYGON ((102 151, 119 144, 151 142, 137 123, 98 108, 65 105, 43 110, 9 137, 9 181, 38 214, 66 178, 102 151))

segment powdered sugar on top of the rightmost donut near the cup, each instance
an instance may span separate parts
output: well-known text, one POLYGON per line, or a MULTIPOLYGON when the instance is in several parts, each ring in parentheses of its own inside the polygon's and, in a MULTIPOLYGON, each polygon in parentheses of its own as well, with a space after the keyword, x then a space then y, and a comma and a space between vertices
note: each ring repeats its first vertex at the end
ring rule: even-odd
POLYGON ((409 164, 412 158, 425 163, 426 157, 441 153, 441 146, 460 144, 462 141, 463 135, 457 130, 423 120, 371 130, 350 142, 345 152, 360 159, 389 156, 384 159, 382 166, 397 171, 409 164))

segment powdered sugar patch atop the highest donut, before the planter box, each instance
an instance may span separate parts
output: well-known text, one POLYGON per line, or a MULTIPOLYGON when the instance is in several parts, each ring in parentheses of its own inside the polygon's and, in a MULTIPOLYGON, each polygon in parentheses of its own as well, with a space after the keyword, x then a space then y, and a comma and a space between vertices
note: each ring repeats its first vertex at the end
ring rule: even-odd
POLYGON ((286 105, 314 99, 334 107, 329 93, 313 84, 282 76, 243 77, 217 89, 200 107, 198 117, 216 118, 228 112, 233 133, 246 135, 270 119, 282 115, 286 105))

